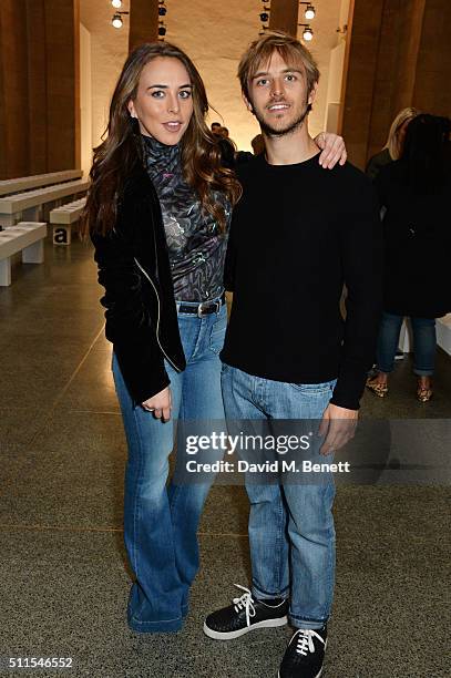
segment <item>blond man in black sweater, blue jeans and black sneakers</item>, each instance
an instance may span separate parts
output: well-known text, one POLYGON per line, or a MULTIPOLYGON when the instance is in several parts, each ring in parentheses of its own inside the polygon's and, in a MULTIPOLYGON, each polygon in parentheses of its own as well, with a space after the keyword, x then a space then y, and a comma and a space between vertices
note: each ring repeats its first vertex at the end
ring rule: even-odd
MULTIPOLYGON (((265 34, 238 74, 266 152, 239 171, 243 197, 229 236, 225 282, 234 304, 221 355, 226 417, 279 429, 276 420, 314 422, 310 452, 325 461, 320 454, 353 434, 372 363, 381 308, 377 201, 352 165, 319 166, 307 127, 319 72, 299 41, 265 34)), ((246 490, 252 589, 242 587, 233 605, 211 614, 204 631, 227 640, 289 619, 295 633, 279 678, 318 678, 334 594, 334 482, 246 476, 246 490)))

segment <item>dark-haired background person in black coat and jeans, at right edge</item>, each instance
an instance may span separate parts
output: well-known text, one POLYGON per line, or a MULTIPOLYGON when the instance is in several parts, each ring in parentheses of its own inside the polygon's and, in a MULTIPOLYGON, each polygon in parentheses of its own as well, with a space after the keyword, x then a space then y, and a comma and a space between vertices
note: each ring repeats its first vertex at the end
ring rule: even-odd
POLYGON ((403 151, 379 172, 375 185, 385 208, 385 304, 376 376, 367 388, 386 398, 388 376, 404 316, 413 333, 417 398, 432 398, 435 318, 451 310, 451 165, 447 117, 419 114, 409 123, 403 151))

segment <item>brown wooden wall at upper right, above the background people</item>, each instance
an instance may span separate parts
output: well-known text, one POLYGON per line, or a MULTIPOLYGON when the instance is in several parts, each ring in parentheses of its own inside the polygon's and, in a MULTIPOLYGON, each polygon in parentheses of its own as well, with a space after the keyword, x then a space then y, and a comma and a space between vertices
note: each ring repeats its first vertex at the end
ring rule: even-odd
POLYGON ((355 0, 342 133, 352 162, 383 145, 406 106, 451 113, 449 0, 355 0), (378 18, 379 14, 379 18, 378 18))

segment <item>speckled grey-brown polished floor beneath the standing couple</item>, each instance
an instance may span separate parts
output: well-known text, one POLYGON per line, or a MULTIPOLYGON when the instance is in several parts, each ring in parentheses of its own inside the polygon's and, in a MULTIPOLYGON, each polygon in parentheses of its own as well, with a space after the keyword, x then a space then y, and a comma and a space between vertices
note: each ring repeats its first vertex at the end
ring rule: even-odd
MULTIPOLYGON (((273 678, 289 629, 207 639, 204 616, 246 584, 247 501, 215 486, 201 525, 202 569, 183 631, 129 630, 122 546, 125 444, 90 248, 47 245, 0 288, 0 671, 94 678, 273 678), (64 670, 10 670, 9 657, 72 657, 64 670)), ((416 402, 410 359, 362 417, 451 418, 451 360, 416 402)), ((444 477, 444 476, 443 476, 444 477)), ((325 678, 439 678, 449 661, 449 500, 444 484, 341 486, 337 588, 325 678), (448 654, 448 657, 447 657, 448 654)))

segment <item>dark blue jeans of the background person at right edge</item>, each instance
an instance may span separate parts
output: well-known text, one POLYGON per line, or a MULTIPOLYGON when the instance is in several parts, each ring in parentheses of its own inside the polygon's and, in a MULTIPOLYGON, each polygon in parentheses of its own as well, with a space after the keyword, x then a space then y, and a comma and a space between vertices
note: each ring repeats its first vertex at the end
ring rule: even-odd
MULTIPOLYGON (((382 314, 379 328, 376 367, 381 372, 392 372, 403 316, 382 314)), ((410 318, 413 333, 413 372, 418 377, 431 377, 434 370, 437 336, 434 318, 410 318)))

